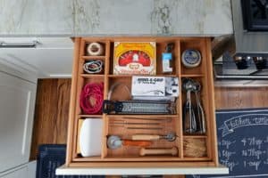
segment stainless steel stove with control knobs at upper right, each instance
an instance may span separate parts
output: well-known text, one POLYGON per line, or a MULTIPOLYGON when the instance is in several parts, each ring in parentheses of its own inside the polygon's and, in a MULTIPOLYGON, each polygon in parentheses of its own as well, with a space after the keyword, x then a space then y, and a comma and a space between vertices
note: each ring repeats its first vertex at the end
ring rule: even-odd
POLYGON ((236 53, 214 63, 223 79, 268 78, 268 0, 231 0, 236 53))

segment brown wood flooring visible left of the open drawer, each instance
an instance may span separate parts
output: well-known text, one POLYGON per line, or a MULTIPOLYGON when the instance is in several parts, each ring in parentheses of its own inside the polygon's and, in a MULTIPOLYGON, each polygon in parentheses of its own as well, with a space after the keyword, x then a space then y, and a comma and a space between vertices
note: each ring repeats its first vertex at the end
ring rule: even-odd
POLYGON ((71 79, 39 79, 30 159, 40 144, 66 144, 71 79))

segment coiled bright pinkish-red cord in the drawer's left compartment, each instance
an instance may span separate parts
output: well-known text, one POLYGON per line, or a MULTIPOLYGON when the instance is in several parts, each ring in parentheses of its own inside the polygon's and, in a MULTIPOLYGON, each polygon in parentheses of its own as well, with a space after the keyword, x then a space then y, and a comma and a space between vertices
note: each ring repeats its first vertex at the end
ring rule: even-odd
POLYGON ((101 114, 103 101, 104 83, 89 83, 83 87, 80 93, 80 107, 85 114, 101 114))

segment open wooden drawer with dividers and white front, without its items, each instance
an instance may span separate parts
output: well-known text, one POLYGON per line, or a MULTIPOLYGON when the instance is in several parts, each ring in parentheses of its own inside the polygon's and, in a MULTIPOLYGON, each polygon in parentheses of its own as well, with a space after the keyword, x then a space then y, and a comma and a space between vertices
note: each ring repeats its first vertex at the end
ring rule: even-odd
MULTIPOLYGON (((66 164, 57 170, 57 174, 226 174, 228 169, 218 165, 216 142, 216 127, 214 117, 214 80, 211 56, 211 41, 208 37, 76 37, 74 62, 71 84, 71 105, 69 116, 68 144, 66 164), (105 46, 101 56, 87 56, 87 44, 97 42, 105 46), (114 42, 155 42, 156 43, 156 75, 160 77, 179 77, 180 96, 175 101, 176 114, 173 115, 85 115, 80 109, 80 92, 82 87, 90 82, 104 82, 104 99, 114 83, 122 83, 131 88, 130 75, 113 75, 114 42), (166 44, 173 43, 173 71, 162 73, 162 53, 166 44), (201 53, 201 64, 192 69, 185 68, 180 61, 181 54, 187 49, 196 49, 201 53), (104 62, 102 74, 85 74, 85 61, 101 60, 104 62), (181 89, 183 78, 192 78, 202 85, 201 101, 205 109, 205 134, 184 134, 183 104, 186 93, 181 89), (78 151, 79 121, 85 118, 103 119, 102 150, 98 157, 81 157, 78 151), (134 118, 154 118, 162 121, 162 130, 143 130, 143 134, 177 134, 175 142, 155 141, 150 148, 178 148, 175 156, 139 156, 139 148, 122 147, 117 150, 107 148, 108 135, 120 135, 130 139, 130 135, 140 133, 139 130, 127 129, 125 126, 113 126, 111 122, 124 117, 133 117, 132 122, 140 121, 134 118), (135 168, 134 168, 135 167, 135 168), (73 168, 73 169, 71 169, 73 168), (72 170, 71 172, 66 170, 72 170), (83 171, 81 171, 83 170, 83 171), (85 171, 88 170, 88 171, 85 171), (114 171, 115 170, 115 171, 114 171), (130 171, 132 170, 132 172, 130 171), (140 170, 138 172, 138 170, 140 170), (150 171, 151 170, 151 171, 150 171)), ((123 88, 113 93, 114 100, 125 98, 127 93, 123 88)), ((151 122, 151 121, 148 121, 151 122)))

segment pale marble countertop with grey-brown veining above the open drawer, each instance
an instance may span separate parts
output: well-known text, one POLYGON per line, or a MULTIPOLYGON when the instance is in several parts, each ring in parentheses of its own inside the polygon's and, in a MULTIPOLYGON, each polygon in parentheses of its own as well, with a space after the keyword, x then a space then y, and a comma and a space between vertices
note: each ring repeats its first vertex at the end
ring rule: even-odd
POLYGON ((0 36, 233 33, 230 0, 1 0, 0 36))

